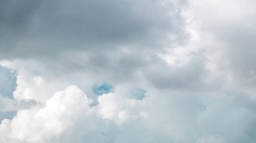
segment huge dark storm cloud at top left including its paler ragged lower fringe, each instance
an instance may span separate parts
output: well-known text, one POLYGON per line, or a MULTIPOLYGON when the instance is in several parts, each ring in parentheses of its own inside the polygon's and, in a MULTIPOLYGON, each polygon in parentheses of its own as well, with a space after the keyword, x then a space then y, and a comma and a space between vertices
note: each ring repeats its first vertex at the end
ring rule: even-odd
POLYGON ((156 54, 187 40, 185 1, 1 1, 0 56, 30 58, 55 73, 136 80, 156 54))

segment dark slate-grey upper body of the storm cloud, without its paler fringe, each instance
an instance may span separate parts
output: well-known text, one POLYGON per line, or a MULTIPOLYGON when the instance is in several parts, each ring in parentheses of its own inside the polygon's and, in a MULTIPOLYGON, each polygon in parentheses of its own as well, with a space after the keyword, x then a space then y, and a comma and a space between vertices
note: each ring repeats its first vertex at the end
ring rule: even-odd
POLYGON ((160 1, 1 1, 1 56, 53 56, 63 50, 161 48, 183 36, 173 3, 160 1))

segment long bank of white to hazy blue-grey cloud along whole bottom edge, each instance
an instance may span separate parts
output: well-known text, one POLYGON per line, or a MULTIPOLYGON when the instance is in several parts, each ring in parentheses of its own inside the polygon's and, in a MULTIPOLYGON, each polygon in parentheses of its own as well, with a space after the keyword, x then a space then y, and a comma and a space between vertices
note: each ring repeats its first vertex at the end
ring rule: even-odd
POLYGON ((1 142, 255 140, 255 105, 244 95, 155 93, 159 91, 150 90, 141 100, 108 93, 92 106, 92 99, 70 86, 45 105, 19 110, 13 120, 3 120, 1 142))

